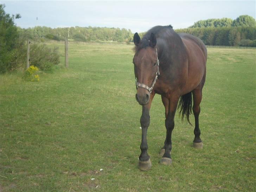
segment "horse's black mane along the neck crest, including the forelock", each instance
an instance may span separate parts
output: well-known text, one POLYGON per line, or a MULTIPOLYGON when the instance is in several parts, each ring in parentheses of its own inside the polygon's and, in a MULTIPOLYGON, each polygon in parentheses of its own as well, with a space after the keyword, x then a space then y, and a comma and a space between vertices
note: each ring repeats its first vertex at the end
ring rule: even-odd
POLYGON ((139 51, 139 50, 149 46, 149 39, 150 39, 151 33, 154 33, 156 35, 159 31, 161 31, 163 29, 166 29, 166 28, 172 28, 172 25, 168 25, 168 26, 160 26, 160 25, 158 25, 158 26, 152 27, 143 36, 143 38, 141 39, 140 45, 135 47, 135 51, 137 52, 137 51, 139 51))

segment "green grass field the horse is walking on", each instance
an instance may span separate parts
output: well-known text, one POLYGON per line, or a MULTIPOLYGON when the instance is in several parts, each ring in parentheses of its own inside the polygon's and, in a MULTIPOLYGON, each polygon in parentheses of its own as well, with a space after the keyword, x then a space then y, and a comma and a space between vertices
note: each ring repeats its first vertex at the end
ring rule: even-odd
POLYGON ((172 166, 159 164, 166 131, 155 96, 152 168, 142 172, 133 46, 72 43, 69 69, 57 46, 61 63, 40 82, 0 76, 0 191, 256 191, 255 49, 208 49, 204 148, 191 147, 193 127, 176 115, 172 166))

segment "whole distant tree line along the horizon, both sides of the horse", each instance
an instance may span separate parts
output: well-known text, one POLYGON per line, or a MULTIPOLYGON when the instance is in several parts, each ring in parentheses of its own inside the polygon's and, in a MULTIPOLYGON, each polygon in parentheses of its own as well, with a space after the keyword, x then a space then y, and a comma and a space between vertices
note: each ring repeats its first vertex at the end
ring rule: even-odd
MULTIPOLYGON (((199 37, 206 45, 219 46, 256 46, 256 21, 249 15, 240 15, 236 19, 207 19, 200 20, 194 25, 175 30, 177 33, 190 33, 199 37)), ((62 27, 50 28, 36 26, 23 29, 18 27, 22 37, 37 39, 47 38, 77 41, 117 41, 132 42, 133 33, 125 28, 107 27, 62 27)), ((140 33, 142 36, 144 33, 140 33)))

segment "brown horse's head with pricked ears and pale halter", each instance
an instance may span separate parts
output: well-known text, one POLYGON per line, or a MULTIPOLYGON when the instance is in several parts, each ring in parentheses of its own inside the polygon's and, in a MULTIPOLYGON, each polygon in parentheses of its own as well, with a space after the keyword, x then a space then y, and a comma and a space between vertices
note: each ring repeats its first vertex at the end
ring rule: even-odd
POLYGON ((159 75, 156 37, 151 33, 150 38, 143 38, 141 41, 139 34, 135 33, 133 41, 136 46, 136 53, 133 57, 137 86, 135 97, 140 105, 146 105, 159 75))

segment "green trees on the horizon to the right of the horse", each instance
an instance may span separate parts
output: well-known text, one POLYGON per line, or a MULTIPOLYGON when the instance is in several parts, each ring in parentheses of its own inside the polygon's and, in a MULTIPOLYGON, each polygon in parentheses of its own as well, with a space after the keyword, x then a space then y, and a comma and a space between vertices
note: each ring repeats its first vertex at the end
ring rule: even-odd
POLYGON ((249 15, 240 15, 234 20, 200 20, 188 28, 175 31, 192 34, 206 45, 256 47, 256 21, 249 15))

